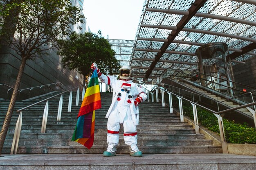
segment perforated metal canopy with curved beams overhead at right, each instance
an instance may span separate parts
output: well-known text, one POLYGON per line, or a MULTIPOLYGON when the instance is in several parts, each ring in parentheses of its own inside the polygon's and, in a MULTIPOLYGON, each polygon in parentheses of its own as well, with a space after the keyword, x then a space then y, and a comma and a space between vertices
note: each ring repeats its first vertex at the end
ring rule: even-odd
POLYGON ((167 68, 197 70, 195 51, 213 42, 228 45, 233 65, 246 62, 256 56, 256 0, 145 0, 135 41, 109 41, 135 81, 167 68))

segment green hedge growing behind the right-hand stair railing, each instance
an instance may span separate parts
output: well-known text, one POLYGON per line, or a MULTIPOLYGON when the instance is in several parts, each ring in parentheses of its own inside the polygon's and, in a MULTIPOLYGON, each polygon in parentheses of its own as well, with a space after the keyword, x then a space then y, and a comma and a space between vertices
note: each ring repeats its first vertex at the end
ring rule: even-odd
MULTIPOLYGON (((184 115, 188 116, 192 120, 193 118, 193 109, 192 105, 182 100, 183 104, 183 113, 184 115)), ((175 108, 179 108, 177 99, 173 98, 173 105, 175 108)), ((213 113, 197 107, 198 113, 198 122, 202 124, 204 127, 207 127, 209 130, 220 133, 218 119, 213 113)), ((223 118, 223 125, 225 130, 225 137, 227 143, 232 144, 256 144, 256 131, 255 128, 249 127, 246 123, 245 124, 238 124, 234 121, 230 121, 223 118)))

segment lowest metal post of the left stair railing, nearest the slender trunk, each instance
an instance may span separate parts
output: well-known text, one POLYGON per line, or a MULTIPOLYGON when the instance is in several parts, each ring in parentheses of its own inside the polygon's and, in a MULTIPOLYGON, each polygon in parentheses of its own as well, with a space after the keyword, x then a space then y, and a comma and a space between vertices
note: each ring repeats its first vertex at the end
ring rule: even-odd
POLYGON ((20 139, 21 125, 22 125, 22 111, 20 111, 20 115, 18 117, 16 126, 15 126, 13 141, 12 141, 12 145, 11 145, 11 153, 10 153, 11 155, 17 154, 18 144, 19 144, 19 139, 20 139))

